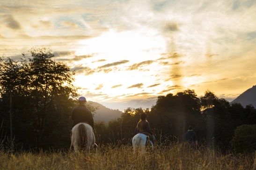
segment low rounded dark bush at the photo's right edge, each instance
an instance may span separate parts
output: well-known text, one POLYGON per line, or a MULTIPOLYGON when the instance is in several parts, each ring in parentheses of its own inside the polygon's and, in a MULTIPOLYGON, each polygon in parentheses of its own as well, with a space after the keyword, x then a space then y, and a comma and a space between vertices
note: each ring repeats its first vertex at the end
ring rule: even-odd
POLYGON ((256 151, 256 124, 237 127, 231 145, 239 153, 256 151))

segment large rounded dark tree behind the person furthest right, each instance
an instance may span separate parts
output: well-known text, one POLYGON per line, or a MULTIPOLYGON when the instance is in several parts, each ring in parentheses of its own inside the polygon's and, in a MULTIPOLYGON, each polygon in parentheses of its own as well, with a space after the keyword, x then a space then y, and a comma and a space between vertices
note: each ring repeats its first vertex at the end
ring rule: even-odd
MULTIPOLYGON (((176 95, 159 96, 148 116, 153 128, 169 139, 183 140, 189 126, 200 129, 196 122, 202 122, 200 100, 194 90, 185 90, 176 95)), ((202 123, 200 123, 202 125, 202 123)))

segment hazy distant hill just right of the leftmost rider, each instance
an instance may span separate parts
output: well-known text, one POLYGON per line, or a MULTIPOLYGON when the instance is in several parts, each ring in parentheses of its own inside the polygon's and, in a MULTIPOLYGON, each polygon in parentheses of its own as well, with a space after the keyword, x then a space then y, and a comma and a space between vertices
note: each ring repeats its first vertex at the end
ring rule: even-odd
POLYGON ((95 122, 98 122, 98 121, 109 122, 112 119, 120 117, 122 114, 122 111, 118 109, 117 110, 109 109, 97 102, 89 101, 88 103, 93 107, 98 107, 98 109, 94 113, 95 122))

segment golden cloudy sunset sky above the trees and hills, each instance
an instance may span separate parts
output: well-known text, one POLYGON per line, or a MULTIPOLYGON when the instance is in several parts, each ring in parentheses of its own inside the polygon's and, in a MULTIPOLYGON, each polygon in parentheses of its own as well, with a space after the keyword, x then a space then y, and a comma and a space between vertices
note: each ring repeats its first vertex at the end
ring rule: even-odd
POLYGON ((0 56, 50 48, 110 109, 186 89, 232 102, 256 85, 255 16, 256 0, 0 0, 0 56))

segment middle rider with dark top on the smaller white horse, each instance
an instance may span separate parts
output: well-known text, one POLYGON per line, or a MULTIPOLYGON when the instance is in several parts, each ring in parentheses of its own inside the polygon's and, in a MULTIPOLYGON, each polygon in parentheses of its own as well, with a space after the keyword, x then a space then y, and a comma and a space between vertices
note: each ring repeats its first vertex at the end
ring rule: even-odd
POLYGON ((150 130, 149 122, 146 120, 146 113, 140 115, 140 120, 135 128, 134 135, 137 135, 138 133, 143 133, 149 136, 149 139, 154 143, 154 135, 150 130))

